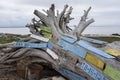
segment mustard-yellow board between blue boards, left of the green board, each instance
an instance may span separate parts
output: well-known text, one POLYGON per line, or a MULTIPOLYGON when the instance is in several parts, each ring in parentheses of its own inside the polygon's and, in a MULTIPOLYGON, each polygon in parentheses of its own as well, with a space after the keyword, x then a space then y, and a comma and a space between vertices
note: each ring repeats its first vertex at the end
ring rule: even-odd
POLYGON ((85 60, 102 70, 104 68, 104 62, 92 54, 87 53, 85 60))

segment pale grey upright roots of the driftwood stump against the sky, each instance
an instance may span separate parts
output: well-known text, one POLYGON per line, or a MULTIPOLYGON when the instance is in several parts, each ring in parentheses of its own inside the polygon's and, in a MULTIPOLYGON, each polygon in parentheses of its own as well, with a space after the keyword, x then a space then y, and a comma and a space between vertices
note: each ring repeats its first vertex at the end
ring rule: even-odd
POLYGON ((35 10, 34 14, 38 16, 41 22, 44 22, 46 26, 51 27, 52 34, 53 36, 56 37, 56 39, 60 39, 62 35, 66 35, 79 40, 81 33, 84 31, 84 29, 94 22, 94 19, 87 20, 87 16, 91 7, 89 7, 87 11, 84 10, 84 15, 81 17, 81 20, 78 26, 75 27, 75 29, 72 31, 69 31, 70 29, 68 27, 68 23, 70 22, 70 20, 73 19, 70 17, 73 8, 70 7, 68 11, 67 11, 67 8, 68 8, 68 5, 65 5, 63 11, 60 14, 57 11, 57 16, 56 16, 55 6, 54 4, 52 4, 49 10, 47 11, 44 10, 44 12, 47 15, 38 10, 35 10))

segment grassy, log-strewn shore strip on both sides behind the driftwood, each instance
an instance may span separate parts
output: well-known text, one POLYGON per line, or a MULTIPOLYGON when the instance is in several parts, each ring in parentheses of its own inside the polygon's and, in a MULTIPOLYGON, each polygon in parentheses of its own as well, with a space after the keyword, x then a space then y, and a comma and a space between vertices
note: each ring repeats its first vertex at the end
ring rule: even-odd
MULTIPOLYGON (((98 39, 102 41, 107 41, 107 42, 113 42, 113 41, 120 41, 120 35, 100 35, 100 34, 86 34, 83 35, 84 37, 90 37, 93 39, 98 39)), ((22 38, 27 38, 29 37, 29 34, 27 35, 21 35, 21 34, 10 34, 10 33, 0 33, 0 43, 9 43, 12 41, 19 41, 22 38)))

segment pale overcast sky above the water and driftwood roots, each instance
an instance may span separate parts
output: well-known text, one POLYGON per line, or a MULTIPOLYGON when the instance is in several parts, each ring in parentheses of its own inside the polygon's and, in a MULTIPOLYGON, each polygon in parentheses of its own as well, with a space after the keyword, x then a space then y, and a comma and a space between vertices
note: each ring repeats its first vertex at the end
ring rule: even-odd
POLYGON ((92 7, 88 18, 94 18, 91 26, 119 26, 120 0, 1 0, 0 27, 25 26, 35 17, 35 9, 48 9, 54 3, 57 10, 62 10, 65 4, 73 7, 70 25, 77 25, 83 10, 92 7))

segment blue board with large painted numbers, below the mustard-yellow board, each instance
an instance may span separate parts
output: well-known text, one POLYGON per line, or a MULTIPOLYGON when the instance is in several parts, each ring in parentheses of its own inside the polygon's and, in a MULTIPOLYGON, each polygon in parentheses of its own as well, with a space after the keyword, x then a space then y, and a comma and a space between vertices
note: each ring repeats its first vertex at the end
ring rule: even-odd
POLYGON ((80 68, 86 72, 89 76, 91 76, 94 80, 109 80, 103 74, 98 72, 96 69, 91 67, 86 62, 83 62, 80 68))

